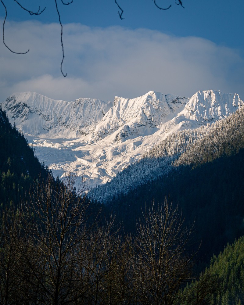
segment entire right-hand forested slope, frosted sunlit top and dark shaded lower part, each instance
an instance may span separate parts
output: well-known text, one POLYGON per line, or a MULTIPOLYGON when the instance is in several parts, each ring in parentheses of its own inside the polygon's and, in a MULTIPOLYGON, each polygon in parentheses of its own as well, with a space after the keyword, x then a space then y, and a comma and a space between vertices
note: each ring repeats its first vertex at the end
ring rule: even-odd
MULTIPOLYGON (((227 242, 233 242, 244 233, 241 182, 244 174, 243 122, 243 109, 240 109, 206 131, 201 127, 199 131, 202 130, 202 133, 184 131, 174 135, 174 140, 179 138, 180 143, 188 141, 182 153, 172 149, 177 145, 175 142, 171 144, 166 139, 147 154, 147 158, 118 175, 114 180, 120 189, 117 195, 113 192, 113 183, 108 183, 104 189, 101 186, 100 195, 104 190, 105 198, 111 198, 106 193, 111 186, 113 199, 108 206, 116 211, 128 231, 134 229, 136 215, 140 214, 144 204, 148 206, 152 200, 161 203, 164 196, 170 196, 175 204, 179 204, 187 222, 195 222, 196 247, 201 243, 198 255, 201 260, 208 261, 227 242), (186 137, 189 134, 191 136, 186 137), (195 142, 192 141, 194 134, 199 135, 195 142), (171 150, 165 149, 166 144, 171 150), (169 157, 160 157, 162 154, 170 155, 170 151, 175 156, 174 160, 170 159, 171 162, 166 161, 169 157), (184 160, 189 161, 185 164, 184 160), (134 188, 130 177, 144 177, 144 170, 151 179, 134 188), (150 177, 151 170, 158 175, 150 177)), ((173 135, 169 137, 170 140, 172 138, 173 135)))

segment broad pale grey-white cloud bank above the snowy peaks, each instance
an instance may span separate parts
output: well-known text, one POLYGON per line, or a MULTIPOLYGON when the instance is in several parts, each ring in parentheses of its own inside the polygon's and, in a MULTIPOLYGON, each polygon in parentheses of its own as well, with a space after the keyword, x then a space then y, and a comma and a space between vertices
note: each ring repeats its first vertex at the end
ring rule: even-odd
POLYGON ((0 44, 1 101, 16 91, 36 91, 53 99, 111 100, 149 90, 191 96, 201 89, 237 92, 244 99, 244 61, 236 50, 211 41, 122 27, 64 25, 63 71, 59 24, 8 23, 0 44))

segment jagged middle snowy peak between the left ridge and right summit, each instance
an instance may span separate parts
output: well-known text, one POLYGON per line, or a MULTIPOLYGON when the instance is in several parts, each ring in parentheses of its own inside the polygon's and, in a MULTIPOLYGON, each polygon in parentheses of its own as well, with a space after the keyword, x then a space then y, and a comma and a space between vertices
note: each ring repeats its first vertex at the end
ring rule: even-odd
POLYGON ((135 99, 115 97, 113 107, 96 126, 90 140, 97 142, 113 134, 113 143, 151 133, 175 116, 189 99, 177 95, 163 95, 155 91, 135 99))

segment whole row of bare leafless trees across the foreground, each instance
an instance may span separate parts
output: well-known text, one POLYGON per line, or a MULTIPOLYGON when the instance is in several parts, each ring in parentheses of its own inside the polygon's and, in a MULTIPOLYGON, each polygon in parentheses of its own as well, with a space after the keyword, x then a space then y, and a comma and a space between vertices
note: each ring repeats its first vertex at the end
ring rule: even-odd
POLYGON ((166 199, 131 237, 92 214, 76 179, 50 175, 2 213, 1 304, 173 304, 191 278, 191 228, 166 199))

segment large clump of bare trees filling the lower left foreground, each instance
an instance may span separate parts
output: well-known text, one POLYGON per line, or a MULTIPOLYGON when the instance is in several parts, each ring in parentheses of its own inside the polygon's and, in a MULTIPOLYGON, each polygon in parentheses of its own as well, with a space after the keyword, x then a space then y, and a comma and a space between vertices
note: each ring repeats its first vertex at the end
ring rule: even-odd
POLYGON ((76 175, 67 173, 64 184, 49 175, 36 181, 21 213, 2 218, 2 303, 130 303, 131 243, 115 217, 89 220, 80 191, 76 175))

